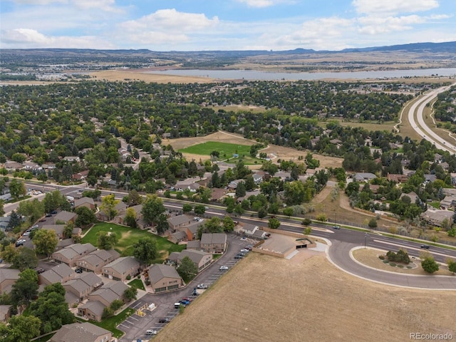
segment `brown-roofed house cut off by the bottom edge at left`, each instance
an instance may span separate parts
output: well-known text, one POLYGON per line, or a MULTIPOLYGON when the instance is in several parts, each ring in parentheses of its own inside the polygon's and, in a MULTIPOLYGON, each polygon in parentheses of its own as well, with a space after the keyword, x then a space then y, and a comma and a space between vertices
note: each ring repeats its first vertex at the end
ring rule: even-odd
POLYGON ((49 342, 110 342, 113 333, 92 323, 71 323, 62 326, 49 342))

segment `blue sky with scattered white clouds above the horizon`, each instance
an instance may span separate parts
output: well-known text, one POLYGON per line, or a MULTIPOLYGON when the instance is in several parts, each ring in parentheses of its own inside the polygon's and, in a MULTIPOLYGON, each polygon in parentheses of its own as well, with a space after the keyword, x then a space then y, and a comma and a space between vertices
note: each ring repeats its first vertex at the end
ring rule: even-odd
POLYGON ((341 50, 456 41, 456 0, 0 0, 0 48, 341 50))

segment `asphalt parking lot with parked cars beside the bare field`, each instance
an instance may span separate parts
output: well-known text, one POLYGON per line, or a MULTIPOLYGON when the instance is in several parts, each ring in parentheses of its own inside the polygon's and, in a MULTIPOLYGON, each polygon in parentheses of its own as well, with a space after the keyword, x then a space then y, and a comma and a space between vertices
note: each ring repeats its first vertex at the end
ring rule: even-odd
POLYGON ((217 261, 214 261, 207 269, 204 269, 204 271, 198 274, 190 284, 185 286, 185 288, 166 294, 146 294, 141 299, 138 299, 138 301, 131 304, 130 308, 137 310, 142 306, 148 306, 153 303, 155 304, 155 309, 152 311, 143 310, 144 316, 133 314, 120 323, 117 328, 125 332, 125 335, 123 338, 120 338, 120 341, 130 342, 137 338, 152 338, 155 333, 166 326, 166 323, 159 323, 162 318, 167 318, 171 321, 172 318, 175 318, 175 316, 179 314, 179 309, 175 308, 175 303, 181 301, 182 298, 187 297, 192 300, 189 304, 191 306, 192 302, 197 300, 198 294, 202 294, 205 291, 205 289, 196 289, 197 284, 204 284, 210 287, 220 278, 220 276, 229 272, 237 262, 242 260, 234 259, 242 248, 249 244, 254 244, 254 241, 240 239, 239 236, 234 234, 228 234, 227 241, 227 252, 217 259, 217 261), (220 266, 227 266, 228 270, 220 270, 220 266), (194 294, 195 289, 197 292, 196 295, 194 294))

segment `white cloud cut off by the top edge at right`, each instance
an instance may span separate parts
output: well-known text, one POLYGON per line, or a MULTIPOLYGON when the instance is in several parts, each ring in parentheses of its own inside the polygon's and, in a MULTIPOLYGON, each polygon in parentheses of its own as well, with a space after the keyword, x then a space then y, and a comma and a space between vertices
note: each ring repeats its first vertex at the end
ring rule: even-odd
POLYGON ((353 0, 360 14, 399 14, 428 11, 439 6, 437 0, 353 0))

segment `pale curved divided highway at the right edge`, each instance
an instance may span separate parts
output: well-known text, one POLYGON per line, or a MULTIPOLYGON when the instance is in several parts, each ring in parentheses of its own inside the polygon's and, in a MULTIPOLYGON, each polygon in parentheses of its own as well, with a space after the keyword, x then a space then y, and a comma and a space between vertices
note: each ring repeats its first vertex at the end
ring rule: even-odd
POLYGON ((456 83, 453 83, 451 86, 441 87, 435 90, 431 90, 430 93, 423 95, 422 98, 413 103, 413 105, 408 110, 408 121, 412 128, 418 133, 421 137, 425 138, 427 141, 432 142, 440 150, 444 150, 447 152, 456 152, 456 146, 450 144, 449 142, 445 141, 445 139, 440 138, 435 132, 433 132, 429 126, 426 125, 425 120, 423 119, 423 111, 427 103, 430 103, 434 98, 437 97, 438 94, 447 91, 452 86, 455 86, 456 83), (418 124, 415 121, 415 112, 418 120, 418 124))

